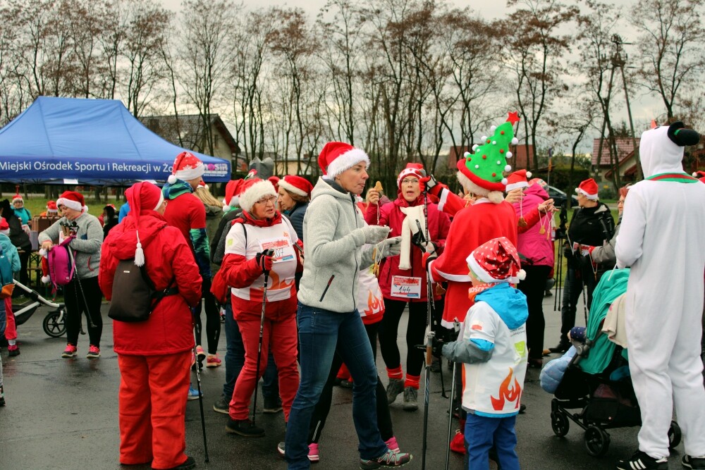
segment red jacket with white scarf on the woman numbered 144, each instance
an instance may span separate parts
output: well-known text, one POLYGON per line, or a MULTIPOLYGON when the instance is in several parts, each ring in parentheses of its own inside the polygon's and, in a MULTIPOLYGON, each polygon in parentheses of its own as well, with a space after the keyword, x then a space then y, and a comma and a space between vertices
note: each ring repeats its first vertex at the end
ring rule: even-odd
MULTIPOLYGON (((423 204, 423 198, 419 198, 419 202, 423 204)), ((384 204, 379 207, 379 223, 377 220, 377 206, 369 204, 367 212, 364 214, 364 220, 369 225, 387 225, 391 228, 390 237, 401 235, 401 227, 406 215, 399 209, 400 207, 408 207, 410 205, 403 197, 398 197, 392 204, 384 204)), ((429 237, 439 249, 439 254, 443 252, 443 247, 446 245, 446 236, 450 229, 450 218, 443 212, 439 211, 438 205, 429 202, 428 205, 428 225, 429 237)), ((398 299, 391 296, 392 276, 410 276, 421 278, 421 297, 413 299, 411 302, 426 302, 426 270, 423 266, 423 253, 419 247, 411 246, 411 269, 399 268, 399 256, 390 256, 382 261, 381 271, 379 273, 379 287, 382 290, 382 295, 385 299, 398 299)), ((437 297, 436 298, 440 298, 437 297)))

